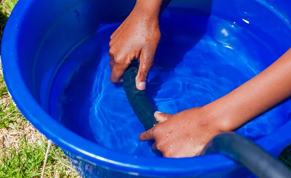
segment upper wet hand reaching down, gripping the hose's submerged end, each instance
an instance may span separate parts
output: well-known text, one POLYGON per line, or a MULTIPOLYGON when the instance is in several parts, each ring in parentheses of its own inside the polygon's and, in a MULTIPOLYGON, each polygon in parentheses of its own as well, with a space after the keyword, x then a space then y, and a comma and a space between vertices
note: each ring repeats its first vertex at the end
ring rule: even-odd
POLYGON ((146 9, 141 6, 136 5, 111 36, 110 81, 122 82, 122 75, 131 61, 140 59, 136 87, 139 90, 145 90, 147 75, 154 62, 161 32, 158 13, 146 12, 146 9))

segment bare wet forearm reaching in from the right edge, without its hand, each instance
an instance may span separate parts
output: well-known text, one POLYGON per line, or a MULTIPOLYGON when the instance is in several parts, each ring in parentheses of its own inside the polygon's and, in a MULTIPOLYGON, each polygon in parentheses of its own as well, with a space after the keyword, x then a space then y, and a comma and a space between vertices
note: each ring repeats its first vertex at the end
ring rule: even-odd
POLYGON ((291 49, 256 77, 205 107, 222 131, 230 131, 290 96, 291 49))

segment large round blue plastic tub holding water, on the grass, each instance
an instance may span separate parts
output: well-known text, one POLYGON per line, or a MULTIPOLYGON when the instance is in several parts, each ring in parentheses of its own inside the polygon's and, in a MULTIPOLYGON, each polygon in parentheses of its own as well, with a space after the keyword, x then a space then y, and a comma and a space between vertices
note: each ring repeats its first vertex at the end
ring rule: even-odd
MULTIPOLYGON (((19 0, 2 39, 17 107, 86 178, 245 178, 215 154, 166 159, 138 141, 142 125, 109 82, 111 33, 135 0, 19 0)), ((291 47, 290 0, 173 0, 147 91, 162 112, 201 106, 291 47)), ((236 130, 272 155, 291 143, 290 101, 236 130)), ((235 119, 235 118, 234 118, 235 119)))

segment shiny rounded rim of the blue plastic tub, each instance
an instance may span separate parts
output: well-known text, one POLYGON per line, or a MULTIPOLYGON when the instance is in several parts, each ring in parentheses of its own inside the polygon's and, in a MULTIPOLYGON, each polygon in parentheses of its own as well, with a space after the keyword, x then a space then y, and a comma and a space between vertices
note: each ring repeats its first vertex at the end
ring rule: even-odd
MULTIPOLYGON (((32 2, 33 0, 19 0, 7 21, 1 47, 2 68, 8 91, 18 109, 48 139, 62 149, 81 157, 84 161, 132 175, 195 176, 238 166, 235 162, 219 154, 182 159, 134 157, 134 155, 98 146, 55 121, 32 96, 21 76, 17 62, 19 27, 15 24, 22 23, 32 2)), ((290 128, 291 120, 275 132, 255 142, 269 152, 283 148, 287 142, 291 141, 291 134, 286 134, 291 132, 290 128), (285 137, 280 137, 279 140, 277 139, 279 135, 285 137)))

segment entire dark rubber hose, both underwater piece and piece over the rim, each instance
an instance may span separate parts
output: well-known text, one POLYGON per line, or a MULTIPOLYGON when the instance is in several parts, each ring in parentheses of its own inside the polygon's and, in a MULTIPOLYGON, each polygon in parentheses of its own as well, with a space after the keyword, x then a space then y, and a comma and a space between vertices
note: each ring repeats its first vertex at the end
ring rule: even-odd
MULTIPOLYGON (((134 60, 123 75, 123 88, 133 112, 145 129, 157 124, 156 112, 145 91, 136 88, 135 78, 139 61, 134 60)), ((272 144, 272 143, 270 143, 272 144)), ((281 162, 254 142, 235 133, 222 133, 215 136, 204 148, 201 155, 220 153, 241 163, 259 178, 291 178, 291 171, 281 162)), ((160 154, 160 152, 156 152, 160 154)))

